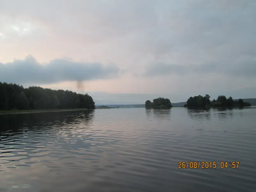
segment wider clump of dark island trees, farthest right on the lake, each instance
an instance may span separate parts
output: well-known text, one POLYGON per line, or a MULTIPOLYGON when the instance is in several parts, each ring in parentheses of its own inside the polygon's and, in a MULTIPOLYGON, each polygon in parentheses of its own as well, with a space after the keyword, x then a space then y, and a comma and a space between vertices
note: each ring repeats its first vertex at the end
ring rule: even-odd
POLYGON ((217 100, 210 101, 210 96, 206 94, 190 97, 184 107, 248 107, 250 103, 244 102, 242 99, 233 100, 232 97, 226 98, 225 95, 219 95, 217 100))

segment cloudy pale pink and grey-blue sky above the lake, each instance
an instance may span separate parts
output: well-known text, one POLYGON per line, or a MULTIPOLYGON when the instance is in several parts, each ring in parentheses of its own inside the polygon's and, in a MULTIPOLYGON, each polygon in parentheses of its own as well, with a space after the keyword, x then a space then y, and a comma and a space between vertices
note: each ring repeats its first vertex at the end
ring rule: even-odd
POLYGON ((256 98, 255 18, 255 0, 0 0, 0 81, 95 104, 256 98))

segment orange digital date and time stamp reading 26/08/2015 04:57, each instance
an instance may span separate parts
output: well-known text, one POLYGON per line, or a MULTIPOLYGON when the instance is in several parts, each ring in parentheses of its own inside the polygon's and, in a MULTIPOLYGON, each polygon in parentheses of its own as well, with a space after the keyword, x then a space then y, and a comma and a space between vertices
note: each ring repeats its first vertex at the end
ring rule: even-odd
POLYGON ((221 161, 217 164, 216 161, 180 161, 178 162, 179 169, 216 169, 220 167, 223 168, 233 168, 237 169, 239 165, 239 161, 221 161))

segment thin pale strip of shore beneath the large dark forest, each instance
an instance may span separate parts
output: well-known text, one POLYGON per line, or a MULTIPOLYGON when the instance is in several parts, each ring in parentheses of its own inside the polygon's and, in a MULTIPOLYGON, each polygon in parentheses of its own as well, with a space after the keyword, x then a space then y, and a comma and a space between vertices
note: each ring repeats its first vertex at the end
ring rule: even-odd
POLYGON ((83 111, 89 110, 87 108, 77 109, 28 109, 28 110, 0 110, 0 115, 4 114, 25 114, 25 113, 44 113, 44 112, 60 112, 60 111, 83 111))

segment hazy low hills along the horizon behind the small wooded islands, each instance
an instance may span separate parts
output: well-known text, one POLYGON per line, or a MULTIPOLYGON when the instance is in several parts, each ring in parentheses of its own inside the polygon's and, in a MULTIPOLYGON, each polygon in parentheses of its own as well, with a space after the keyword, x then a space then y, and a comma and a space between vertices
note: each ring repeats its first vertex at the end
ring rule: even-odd
MULTIPOLYGON (((234 99, 238 100, 238 99, 234 99)), ((249 99, 243 99, 244 102, 250 103, 252 106, 256 106, 256 99, 255 98, 249 98, 249 99)), ((183 107, 184 104, 186 104, 187 101, 185 102, 179 102, 179 103, 172 103, 172 107, 183 107)), ((95 105, 96 107, 102 106, 102 105, 95 105)), ((108 107, 120 107, 120 108, 144 108, 145 104, 129 104, 129 105, 106 105, 108 107)))

